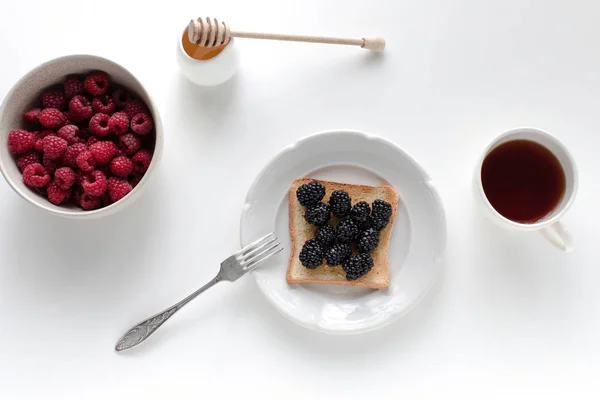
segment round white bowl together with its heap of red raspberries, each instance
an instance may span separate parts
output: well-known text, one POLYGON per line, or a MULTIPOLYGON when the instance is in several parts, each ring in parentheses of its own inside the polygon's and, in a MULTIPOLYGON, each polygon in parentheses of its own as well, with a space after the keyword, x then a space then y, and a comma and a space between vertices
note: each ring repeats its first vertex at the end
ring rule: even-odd
POLYGON ((131 204, 163 148, 158 110, 128 70, 66 56, 30 71, 0 107, 0 170, 25 200, 91 218, 131 204))

